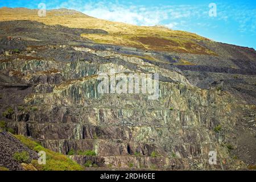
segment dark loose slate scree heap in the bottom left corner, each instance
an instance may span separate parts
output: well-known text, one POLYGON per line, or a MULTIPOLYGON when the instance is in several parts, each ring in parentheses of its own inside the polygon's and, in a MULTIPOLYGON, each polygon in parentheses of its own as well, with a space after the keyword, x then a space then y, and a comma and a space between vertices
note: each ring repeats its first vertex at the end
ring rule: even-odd
POLYGON ((24 146, 18 139, 7 133, 6 131, 0 132, 0 166, 6 167, 10 170, 23 170, 20 163, 14 160, 13 155, 15 152, 26 151, 31 159, 37 159, 38 155, 35 151, 30 150, 24 146))

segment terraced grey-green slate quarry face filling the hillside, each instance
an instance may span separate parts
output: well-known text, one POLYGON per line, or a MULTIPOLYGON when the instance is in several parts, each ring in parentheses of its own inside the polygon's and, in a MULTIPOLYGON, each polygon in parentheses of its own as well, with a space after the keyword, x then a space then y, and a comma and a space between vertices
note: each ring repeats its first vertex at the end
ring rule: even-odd
POLYGON ((10 28, 1 29, 0 48, 18 51, 0 56, 0 109, 1 120, 16 134, 63 154, 74 151, 70 157, 79 164, 90 161, 105 168, 255 165, 253 49, 201 40, 200 46, 216 55, 146 51, 80 37, 108 34, 104 30, 27 20, 0 22, 0 27, 6 24, 10 28), (15 34, 22 40, 5 38, 15 34), (158 73, 158 99, 144 93, 99 93, 98 76, 110 70, 158 73), (217 154, 213 165, 211 151, 217 154))

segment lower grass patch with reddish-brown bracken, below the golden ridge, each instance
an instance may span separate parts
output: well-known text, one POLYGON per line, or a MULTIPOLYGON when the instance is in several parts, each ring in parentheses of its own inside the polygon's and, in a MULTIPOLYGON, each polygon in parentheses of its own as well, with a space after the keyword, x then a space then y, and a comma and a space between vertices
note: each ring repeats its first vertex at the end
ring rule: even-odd
POLYGON ((81 34, 82 37, 100 44, 114 44, 117 46, 129 46, 151 51, 167 51, 194 53, 203 55, 216 55, 216 53, 200 46, 191 38, 177 38, 169 36, 145 34, 81 34))

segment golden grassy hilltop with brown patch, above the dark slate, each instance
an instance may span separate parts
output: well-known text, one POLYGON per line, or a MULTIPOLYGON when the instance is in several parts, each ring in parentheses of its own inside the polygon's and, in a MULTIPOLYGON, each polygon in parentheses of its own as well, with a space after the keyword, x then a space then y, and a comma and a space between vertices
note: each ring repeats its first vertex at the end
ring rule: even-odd
POLYGON ((0 9, 0 20, 35 20, 48 25, 60 24, 70 28, 94 28, 108 32, 108 35, 81 34, 97 43, 131 46, 155 51, 176 51, 199 54, 214 54, 200 46, 197 40, 208 40, 202 36, 166 27, 142 27, 131 24, 110 22, 93 18, 75 10, 48 10, 46 17, 39 17, 38 10, 0 9), (21 16, 22 15, 22 16, 21 16), (146 39, 145 39, 146 38, 146 39))

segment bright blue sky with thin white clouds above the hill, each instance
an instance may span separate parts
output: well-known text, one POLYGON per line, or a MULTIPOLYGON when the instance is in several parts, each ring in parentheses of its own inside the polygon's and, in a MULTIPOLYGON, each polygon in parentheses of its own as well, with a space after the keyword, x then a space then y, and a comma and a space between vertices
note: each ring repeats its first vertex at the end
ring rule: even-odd
POLYGON ((0 7, 38 9, 39 3, 45 3, 48 10, 67 8, 116 22, 162 25, 256 49, 256 0, 0 0, 0 7))

